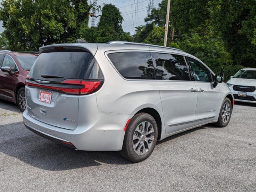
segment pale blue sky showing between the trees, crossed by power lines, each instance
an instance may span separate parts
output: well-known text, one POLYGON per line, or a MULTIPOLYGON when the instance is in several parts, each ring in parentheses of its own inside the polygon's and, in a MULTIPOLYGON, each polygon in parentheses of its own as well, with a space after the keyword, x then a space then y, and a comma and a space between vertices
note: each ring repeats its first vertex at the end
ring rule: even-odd
MULTIPOLYGON (((162 0, 153 0, 154 8, 157 8, 161 1, 162 0)), ((88 4, 92 2, 93 0, 88 0, 88 4)), ((147 16, 148 2, 149 0, 98 0, 97 5, 109 3, 114 4, 117 8, 119 8, 124 18, 122 23, 124 32, 130 32, 130 34, 134 34, 136 26, 145 24, 144 18, 147 16)), ((96 12, 95 14, 100 15, 100 12, 96 12)), ((99 20, 100 17, 96 18, 96 25, 99 20)), ((91 18, 89 19, 88 26, 91 26, 91 18)))

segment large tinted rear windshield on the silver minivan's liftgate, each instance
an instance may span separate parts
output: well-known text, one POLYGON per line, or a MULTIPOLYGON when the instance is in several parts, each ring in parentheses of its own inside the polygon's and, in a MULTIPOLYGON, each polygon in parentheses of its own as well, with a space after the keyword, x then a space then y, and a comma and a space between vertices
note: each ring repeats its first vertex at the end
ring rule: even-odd
POLYGON ((64 79, 82 79, 92 58, 89 52, 41 53, 30 71, 30 78, 46 79, 41 75, 61 77, 47 78, 54 82, 61 82, 64 79))

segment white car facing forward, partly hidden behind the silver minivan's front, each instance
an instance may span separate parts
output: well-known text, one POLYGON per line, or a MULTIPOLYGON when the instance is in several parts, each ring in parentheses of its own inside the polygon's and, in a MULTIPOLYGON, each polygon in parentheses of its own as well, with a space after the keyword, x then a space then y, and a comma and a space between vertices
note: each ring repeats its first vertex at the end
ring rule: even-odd
POLYGON ((241 69, 226 84, 235 101, 256 103, 256 68, 241 69))

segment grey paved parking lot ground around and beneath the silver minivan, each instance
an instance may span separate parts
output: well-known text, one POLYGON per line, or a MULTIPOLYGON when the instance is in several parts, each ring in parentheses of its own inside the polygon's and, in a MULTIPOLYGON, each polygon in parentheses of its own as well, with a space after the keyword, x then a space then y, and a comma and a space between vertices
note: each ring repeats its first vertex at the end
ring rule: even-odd
POLYGON ((171 136, 134 164, 46 140, 0 100, 0 191, 256 191, 256 107, 239 103, 225 128, 171 136))

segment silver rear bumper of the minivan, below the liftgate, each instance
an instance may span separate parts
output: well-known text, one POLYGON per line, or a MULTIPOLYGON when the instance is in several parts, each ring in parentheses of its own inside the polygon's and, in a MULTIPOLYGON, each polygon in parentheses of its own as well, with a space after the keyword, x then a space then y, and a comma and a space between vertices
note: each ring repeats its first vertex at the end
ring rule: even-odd
POLYGON ((36 134, 63 144, 62 141, 71 142, 78 150, 86 151, 120 151, 124 140, 124 126, 129 115, 104 114, 101 121, 92 127, 79 127, 68 130, 40 122, 28 115, 27 110, 22 114, 23 122, 29 130, 36 134))

